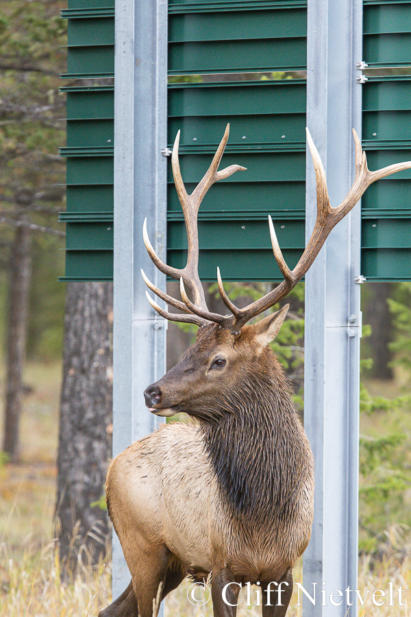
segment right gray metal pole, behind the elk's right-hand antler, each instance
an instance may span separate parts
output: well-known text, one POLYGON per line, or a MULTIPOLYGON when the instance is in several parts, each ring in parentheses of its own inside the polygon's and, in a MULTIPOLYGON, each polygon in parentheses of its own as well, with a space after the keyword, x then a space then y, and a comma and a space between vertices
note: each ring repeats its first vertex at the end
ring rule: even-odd
MULTIPOLYGON (((355 174, 361 137, 362 0, 308 0, 307 124, 323 159, 332 206, 355 174)), ((306 236, 316 215, 308 154, 306 236)), ((360 367, 360 204, 330 234, 306 276, 304 424, 315 457, 312 539, 304 555, 307 617, 356 615, 360 367), (325 589, 325 606, 321 590, 325 589), (340 597, 334 590, 343 592, 340 597), (349 606, 349 603, 353 605, 349 606)))

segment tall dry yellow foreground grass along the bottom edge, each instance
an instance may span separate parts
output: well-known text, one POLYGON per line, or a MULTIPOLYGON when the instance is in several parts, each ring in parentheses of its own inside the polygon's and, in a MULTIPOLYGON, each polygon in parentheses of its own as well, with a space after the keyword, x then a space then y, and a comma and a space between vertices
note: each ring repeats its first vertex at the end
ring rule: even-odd
MULTIPOLYGON (((99 610, 111 601, 111 568, 103 562, 96 568, 90 568, 84 565, 86 561, 86 555, 80 555, 77 576, 74 583, 68 585, 60 579, 60 564, 54 542, 45 544, 40 550, 36 545, 27 544, 18 561, 10 557, 5 543, 1 544, 0 617, 97 616, 99 610)), ((295 581, 302 582, 301 565, 295 568, 295 581)), ((190 604, 187 598, 190 584, 186 580, 169 594, 165 603, 166 617, 212 617, 211 601, 203 607, 190 604)), ((261 608, 255 605, 256 589, 253 587, 251 590, 251 606, 246 606, 247 597, 242 592, 238 617, 260 617, 261 608)), ((371 556, 362 557, 358 589, 362 597, 366 590, 370 590, 364 606, 359 606, 358 617, 410 617, 411 556, 401 561, 395 552, 382 561, 375 561, 371 556), (390 581, 393 582, 394 590, 402 586, 403 601, 407 601, 407 607, 398 605, 397 594, 394 595, 392 607, 388 606, 388 600, 382 607, 373 605, 371 594, 375 590, 385 590, 388 598, 390 581)), ((307 590, 310 591, 309 586, 307 590)), ((303 616, 303 607, 297 606, 297 601, 295 589, 287 617, 303 616)))

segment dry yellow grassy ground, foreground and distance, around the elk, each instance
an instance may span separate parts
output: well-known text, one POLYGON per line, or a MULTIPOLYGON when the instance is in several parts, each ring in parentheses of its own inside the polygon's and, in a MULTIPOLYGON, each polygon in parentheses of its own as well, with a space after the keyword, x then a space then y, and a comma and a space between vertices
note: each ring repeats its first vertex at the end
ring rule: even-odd
MULTIPOLYGON (((0 373, 0 388, 4 383, 0 373)), ((74 585, 60 581, 58 553, 53 541, 55 507, 55 457, 58 443, 58 400, 60 365, 32 365, 27 368, 25 383, 32 386, 25 399, 21 422, 20 465, 0 466, 0 617, 86 617, 97 616, 99 609, 110 603, 110 559, 91 570, 79 557, 79 570, 74 585)), ((395 396, 393 384, 371 383, 373 394, 395 396)), ((0 391, 2 399, 3 393, 0 391)), ((406 420, 405 420, 406 421, 406 420)), ((362 420, 361 432, 369 434, 389 431, 395 422, 389 413, 362 420)), ((1 430, 0 430, 1 438, 1 430)), ((359 617, 411 617, 411 546, 404 546, 407 533, 398 527, 382 529, 386 551, 378 558, 366 555, 360 560, 359 590, 388 591, 389 581, 397 590, 406 590, 408 608, 376 607, 367 598, 360 606, 359 617), (408 556, 404 557, 408 552, 408 556)), ((295 580, 302 583, 301 566, 295 569, 295 580)), ((166 601, 169 617, 211 617, 212 606, 192 606, 187 598, 189 582, 185 581, 166 601)), ((327 590, 328 593, 331 590, 327 590)), ((256 601, 256 592, 251 596, 256 601)), ((239 617, 260 615, 260 607, 245 606, 239 617)), ((387 604, 387 603, 386 603, 387 604)), ((292 597, 288 617, 302 617, 297 606, 297 592, 292 597)), ((336 609, 337 610, 337 609, 336 609)))

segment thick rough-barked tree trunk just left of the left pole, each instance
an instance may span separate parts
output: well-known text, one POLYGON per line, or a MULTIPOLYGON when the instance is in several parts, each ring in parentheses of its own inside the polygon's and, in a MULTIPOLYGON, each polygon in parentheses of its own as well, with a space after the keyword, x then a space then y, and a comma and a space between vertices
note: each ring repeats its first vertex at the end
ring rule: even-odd
POLYGON ((96 502, 112 452, 112 294, 108 282, 67 283, 56 505, 66 577, 79 553, 95 564, 108 537, 96 502))

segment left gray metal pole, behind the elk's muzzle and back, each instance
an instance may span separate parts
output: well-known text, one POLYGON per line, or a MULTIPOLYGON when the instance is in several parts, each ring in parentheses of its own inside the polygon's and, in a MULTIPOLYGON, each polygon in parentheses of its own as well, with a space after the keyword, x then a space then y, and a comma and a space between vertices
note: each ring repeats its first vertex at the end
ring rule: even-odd
MULTIPOLYGON (((165 289, 142 242, 166 259, 166 0, 116 0, 114 86, 114 387, 113 455, 155 428, 143 391, 165 369, 166 322, 145 297, 140 267, 165 289)), ((130 574, 113 537, 113 598, 130 574)))

